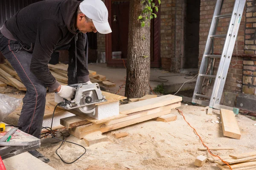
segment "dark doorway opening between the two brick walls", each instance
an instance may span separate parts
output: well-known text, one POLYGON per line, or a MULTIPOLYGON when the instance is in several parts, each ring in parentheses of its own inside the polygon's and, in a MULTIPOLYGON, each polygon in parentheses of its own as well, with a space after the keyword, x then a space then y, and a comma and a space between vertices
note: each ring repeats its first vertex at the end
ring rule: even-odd
POLYGON ((184 34, 184 66, 198 68, 200 0, 187 0, 184 34))

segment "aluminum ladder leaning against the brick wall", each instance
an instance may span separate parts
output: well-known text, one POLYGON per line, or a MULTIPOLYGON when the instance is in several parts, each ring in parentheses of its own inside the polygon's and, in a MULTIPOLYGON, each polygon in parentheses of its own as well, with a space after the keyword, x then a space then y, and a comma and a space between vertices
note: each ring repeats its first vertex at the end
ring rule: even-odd
POLYGON ((209 35, 208 35, 207 43, 205 46, 204 56, 201 61, 201 66, 198 73, 198 79, 197 79, 195 90, 192 97, 192 103, 206 105, 206 106, 209 106, 210 108, 216 108, 216 109, 226 108, 226 109, 232 110, 233 108, 220 105, 220 101, 221 101, 221 95, 223 93, 225 81, 227 78, 227 72, 230 66, 230 61, 233 54, 236 37, 237 37, 239 26, 241 23, 241 17, 244 11, 244 5, 246 0, 235 0, 233 12, 231 14, 221 15, 221 8, 223 5, 223 1, 224 0, 217 0, 216 2, 211 27, 209 30, 209 35), (227 17, 231 17, 227 34, 215 34, 218 26, 218 20, 227 18, 227 17), (224 38, 224 37, 226 37, 226 40, 224 43, 222 54, 221 55, 213 55, 213 53, 210 54, 211 48, 213 48, 213 40, 215 38, 224 38), (211 59, 211 58, 220 58, 218 71, 216 75, 206 74, 208 59, 211 59), (204 77, 208 77, 209 79, 215 79, 211 96, 201 94, 203 83, 204 83, 203 82, 204 77), (201 100, 199 98, 204 98, 205 100, 201 100))

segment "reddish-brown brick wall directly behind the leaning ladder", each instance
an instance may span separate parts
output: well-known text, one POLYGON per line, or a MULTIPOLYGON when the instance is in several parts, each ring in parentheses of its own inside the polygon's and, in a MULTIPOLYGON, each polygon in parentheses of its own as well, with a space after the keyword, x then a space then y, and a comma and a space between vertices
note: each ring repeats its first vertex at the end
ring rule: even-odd
MULTIPOLYGON (((233 5, 235 0, 224 0, 224 5, 222 7, 221 14, 230 14, 233 11, 233 5)), ((215 8, 215 0, 201 0, 201 13, 200 13, 200 42, 199 42, 199 66, 201 64, 201 59, 204 54, 204 49, 209 34, 209 28, 212 22, 212 16, 215 8)), ((221 19, 218 22, 218 28, 216 34, 227 34, 230 18, 221 19)), ((239 33, 237 36, 237 44, 235 45, 233 51, 233 58, 231 60, 230 68, 227 74, 226 84, 224 91, 242 91, 242 69, 243 69, 243 58, 236 57, 236 54, 244 54, 244 28, 245 28, 245 10, 241 18, 241 24, 239 28, 239 33)), ((218 38, 214 39, 214 54, 222 53, 222 48, 224 46, 225 39, 218 38)), ((215 65, 213 69, 213 74, 216 75, 218 69, 219 59, 215 60, 215 65)), ((213 85, 213 83, 211 84, 213 85)))

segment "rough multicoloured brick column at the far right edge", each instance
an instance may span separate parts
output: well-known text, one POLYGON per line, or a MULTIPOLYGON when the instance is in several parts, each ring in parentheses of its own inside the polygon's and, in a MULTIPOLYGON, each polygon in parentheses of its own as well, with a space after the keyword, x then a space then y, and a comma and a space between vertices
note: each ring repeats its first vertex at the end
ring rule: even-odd
MULTIPOLYGON (((246 28, 244 53, 249 55, 256 54, 256 4, 255 0, 247 0, 246 7, 246 28)), ((243 70, 243 92, 245 94, 256 95, 256 59, 244 58, 243 70)))

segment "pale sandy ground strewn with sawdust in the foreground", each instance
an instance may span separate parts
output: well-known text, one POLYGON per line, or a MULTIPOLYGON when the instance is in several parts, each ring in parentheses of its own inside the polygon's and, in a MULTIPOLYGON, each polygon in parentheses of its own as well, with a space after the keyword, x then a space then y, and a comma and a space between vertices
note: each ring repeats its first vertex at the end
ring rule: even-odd
MULTIPOLYGON (((1 88, 2 89, 2 88, 1 88)), ((22 98, 24 94, 12 94, 9 96, 22 98)), ((53 99, 53 94, 47 94, 47 101, 53 99)), ((11 113, 7 122, 17 123, 21 105, 11 113)), ((247 116, 236 117, 241 130, 241 139, 224 137, 221 124, 212 123, 220 121, 219 112, 212 116, 202 107, 184 105, 179 108, 183 111, 187 121, 196 128, 205 144, 209 147, 233 147, 235 150, 212 151, 220 156, 230 153, 244 153, 256 151, 256 121, 247 116)), ((101 142, 87 147, 83 140, 69 136, 72 141, 86 147, 86 154, 73 164, 64 164, 56 155, 55 150, 60 143, 42 144, 39 151, 51 161, 48 163, 56 170, 85 170, 89 165, 115 168, 116 170, 218 170, 215 163, 207 162, 202 167, 195 167, 194 160, 199 155, 209 156, 206 151, 199 151, 203 147, 192 128, 184 121, 176 111, 177 120, 173 122, 156 122, 149 120, 136 125, 131 125, 118 130, 113 130, 103 135, 108 136, 109 142, 101 142), (127 132, 129 136, 115 139, 113 133, 127 132)), ((73 161, 84 150, 74 144, 65 143, 58 153, 65 161, 73 161)))

